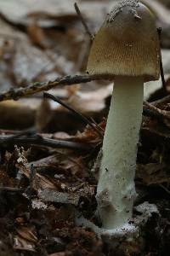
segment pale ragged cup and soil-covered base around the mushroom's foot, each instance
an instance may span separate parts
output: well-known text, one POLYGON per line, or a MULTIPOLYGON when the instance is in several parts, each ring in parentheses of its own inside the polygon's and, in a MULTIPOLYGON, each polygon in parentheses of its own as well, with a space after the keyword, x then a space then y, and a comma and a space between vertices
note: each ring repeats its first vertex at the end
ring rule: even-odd
POLYGON ((105 241, 110 255, 136 255, 144 250, 146 224, 151 219, 158 219, 160 213, 156 205, 147 201, 135 207, 135 211, 138 214, 133 216, 130 224, 124 224, 118 229, 105 230, 99 228, 77 211, 75 212, 76 224, 94 230, 95 234, 105 241))

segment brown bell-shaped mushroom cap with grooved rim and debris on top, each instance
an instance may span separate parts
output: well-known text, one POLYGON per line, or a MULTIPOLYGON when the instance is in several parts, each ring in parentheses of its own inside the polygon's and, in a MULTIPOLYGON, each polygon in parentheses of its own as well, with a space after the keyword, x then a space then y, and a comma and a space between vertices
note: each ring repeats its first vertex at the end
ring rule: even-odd
POLYGON ((87 73, 96 78, 160 76, 160 42, 150 9, 137 0, 124 0, 107 15, 88 57, 87 73))

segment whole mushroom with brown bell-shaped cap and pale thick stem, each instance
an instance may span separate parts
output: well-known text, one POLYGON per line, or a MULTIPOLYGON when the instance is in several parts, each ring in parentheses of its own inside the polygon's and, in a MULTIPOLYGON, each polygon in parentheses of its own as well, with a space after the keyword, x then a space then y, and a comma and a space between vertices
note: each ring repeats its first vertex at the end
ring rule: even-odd
POLYGON ((88 57, 96 79, 114 80, 105 128, 97 201, 104 229, 119 229, 133 216, 134 184, 144 82, 159 79, 160 45, 150 9, 125 0, 107 15, 88 57))

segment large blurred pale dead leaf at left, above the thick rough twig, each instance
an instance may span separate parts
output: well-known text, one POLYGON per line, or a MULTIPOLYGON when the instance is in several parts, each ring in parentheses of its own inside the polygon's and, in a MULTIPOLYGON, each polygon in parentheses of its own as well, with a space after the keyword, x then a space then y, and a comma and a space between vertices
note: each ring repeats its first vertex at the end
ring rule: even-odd
MULTIPOLYGON (((4 80, 8 85, 5 88, 7 90, 13 85, 26 85, 33 79, 37 79, 41 73, 44 75, 47 73, 48 78, 50 78, 50 73, 53 74, 51 79, 54 78, 54 73, 55 78, 59 76, 56 63, 46 52, 31 45, 26 34, 16 31, 2 20, 0 20, 0 25, 0 53, 3 56, 1 58, 1 68, 3 68, 1 90, 4 88, 4 80)), ((59 57, 57 54, 55 56, 59 57)), ((42 79, 45 80, 45 77, 42 79)))

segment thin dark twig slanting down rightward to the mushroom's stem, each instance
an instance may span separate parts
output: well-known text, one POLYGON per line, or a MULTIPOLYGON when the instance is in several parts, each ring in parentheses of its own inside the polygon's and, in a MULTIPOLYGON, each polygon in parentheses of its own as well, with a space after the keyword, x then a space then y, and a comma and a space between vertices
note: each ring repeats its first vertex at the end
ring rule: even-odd
POLYGON ((94 129, 94 131, 96 131, 99 134, 99 137, 103 137, 103 134, 99 131, 99 129, 88 120, 87 117, 85 117, 84 115, 82 115, 82 113, 78 113, 77 110, 75 110, 74 108, 71 108, 69 105, 67 105, 65 102, 62 102, 59 97, 57 96, 53 96, 47 92, 43 93, 43 96, 45 98, 49 98, 51 100, 53 100, 54 102, 58 102, 60 105, 62 105, 63 107, 65 107, 66 109, 70 110, 71 113, 74 113, 79 119, 81 119, 85 124, 88 124, 90 127, 92 127, 94 129))

